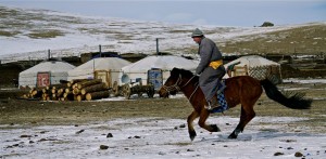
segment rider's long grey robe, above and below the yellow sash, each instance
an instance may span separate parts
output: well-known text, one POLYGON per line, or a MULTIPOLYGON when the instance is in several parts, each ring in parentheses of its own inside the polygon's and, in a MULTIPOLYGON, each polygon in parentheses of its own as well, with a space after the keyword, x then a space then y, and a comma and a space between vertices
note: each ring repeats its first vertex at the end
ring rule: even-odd
POLYGON ((196 74, 200 75, 199 85, 203 91, 206 101, 210 101, 214 94, 216 94, 220 80, 223 78, 226 70, 223 65, 217 69, 214 69, 209 65, 211 62, 222 59, 223 56, 215 42, 204 37, 199 43, 198 53, 201 59, 196 69, 196 74))

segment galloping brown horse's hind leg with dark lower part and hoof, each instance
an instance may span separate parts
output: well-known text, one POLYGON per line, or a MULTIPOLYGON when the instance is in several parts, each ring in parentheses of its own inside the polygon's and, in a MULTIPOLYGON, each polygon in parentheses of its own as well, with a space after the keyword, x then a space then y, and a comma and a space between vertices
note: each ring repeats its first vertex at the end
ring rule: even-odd
POLYGON ((246 124, 247 124, 251 119, 253 119, 254 116, 255 116, 255 112, 254 112, 254 110, 253 110, 253 105, 247 106, 247 107, 244 107, 244 108, 243 108, 243 107, 244 107, 244 106, 242 105, 242 106, 241 106, 240 122, 239 122, 239 124, 237 125, 237 128, 233 131, 233 133, 228 136, 228 138, 237 138, 237 137, 238 137, 238 134, 239 134, 240 132, 243 131, 246 124))

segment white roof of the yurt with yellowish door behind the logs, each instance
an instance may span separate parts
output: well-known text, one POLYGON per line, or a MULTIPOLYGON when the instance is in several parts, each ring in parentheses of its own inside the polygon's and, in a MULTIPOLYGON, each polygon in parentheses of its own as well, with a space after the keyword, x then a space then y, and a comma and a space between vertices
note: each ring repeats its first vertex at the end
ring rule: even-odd
MULTIPOLYGON (((87 71, 87 70, 120 70, 122 67, 129 65, 130 62, 118 57, 100 57, 88 61, 85 64, 76 67, 71 71, 87 71)), ((70 72, 71 72, 70 71, 70 72)))

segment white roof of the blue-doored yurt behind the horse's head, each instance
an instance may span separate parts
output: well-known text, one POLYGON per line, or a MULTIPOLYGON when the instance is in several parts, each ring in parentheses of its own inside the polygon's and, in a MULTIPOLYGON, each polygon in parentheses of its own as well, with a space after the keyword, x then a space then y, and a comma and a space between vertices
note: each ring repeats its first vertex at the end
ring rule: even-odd
POLYGON ((123 67, 122 70, 125 72, 148 71, 151 68, 171 70, 174 67, 193 70, 197 68, 197 62, 180 56, 148 56, 134 64, 123 67))

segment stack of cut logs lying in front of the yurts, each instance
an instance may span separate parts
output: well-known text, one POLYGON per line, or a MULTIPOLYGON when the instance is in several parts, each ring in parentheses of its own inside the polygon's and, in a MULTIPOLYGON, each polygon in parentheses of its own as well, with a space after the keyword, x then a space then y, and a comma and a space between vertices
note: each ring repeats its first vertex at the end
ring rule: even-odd
POLYGON ((110 96, 110 88, 101 79, 76 79, 46 88, 32 89, 23 98, 42 101, 91 101, 110 96))

